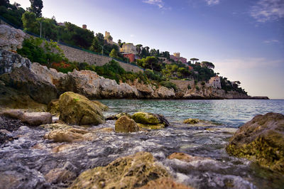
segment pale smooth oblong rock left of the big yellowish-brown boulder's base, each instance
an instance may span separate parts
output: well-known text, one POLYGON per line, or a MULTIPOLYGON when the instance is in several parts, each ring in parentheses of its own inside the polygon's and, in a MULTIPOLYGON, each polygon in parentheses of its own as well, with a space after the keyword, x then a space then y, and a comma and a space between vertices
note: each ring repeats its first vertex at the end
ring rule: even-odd
POLYGON ((51 124, 53 116, 49 112, 25 112, 21 116, 21 121, 33 126, 51 124))

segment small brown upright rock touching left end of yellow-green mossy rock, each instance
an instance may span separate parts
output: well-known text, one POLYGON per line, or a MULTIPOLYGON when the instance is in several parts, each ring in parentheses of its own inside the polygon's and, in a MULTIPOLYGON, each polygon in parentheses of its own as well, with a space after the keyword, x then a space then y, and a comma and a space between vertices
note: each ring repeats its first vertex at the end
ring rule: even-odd
POLYGON ((138 131, 138 126, 133 119, 123 116, 117 119, 114 130, 120 133, 136 132, 138 131))

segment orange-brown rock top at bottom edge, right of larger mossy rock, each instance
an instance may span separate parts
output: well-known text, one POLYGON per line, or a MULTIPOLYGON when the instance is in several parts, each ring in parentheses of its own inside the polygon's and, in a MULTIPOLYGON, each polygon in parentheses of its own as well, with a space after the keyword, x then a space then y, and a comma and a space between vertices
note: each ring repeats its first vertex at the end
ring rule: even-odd
POLYGON ((170 178, 158 178, 156 180, 151 180, 146 185, 143 185, 139 189, 160 189, 160 188, 167 188, 167 189, 190 189, 186 185, 182 185, 180 183, 175 183, 170 178))

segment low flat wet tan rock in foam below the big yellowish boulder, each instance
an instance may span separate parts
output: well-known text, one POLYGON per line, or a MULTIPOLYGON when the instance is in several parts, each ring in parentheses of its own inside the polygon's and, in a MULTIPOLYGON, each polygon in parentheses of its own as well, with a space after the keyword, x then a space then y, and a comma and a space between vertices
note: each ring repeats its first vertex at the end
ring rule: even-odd
POLYGON ((55 142, 73 142, 84 140, 84 134, 88 131, 84 129, 67 129, 67 130, 54 130, 45 134, 44 139, 53 140, 55 142))

